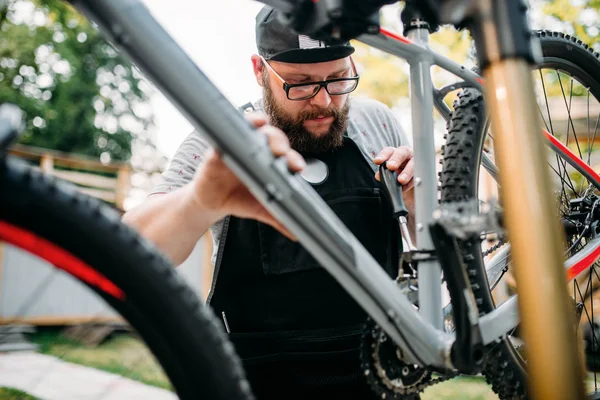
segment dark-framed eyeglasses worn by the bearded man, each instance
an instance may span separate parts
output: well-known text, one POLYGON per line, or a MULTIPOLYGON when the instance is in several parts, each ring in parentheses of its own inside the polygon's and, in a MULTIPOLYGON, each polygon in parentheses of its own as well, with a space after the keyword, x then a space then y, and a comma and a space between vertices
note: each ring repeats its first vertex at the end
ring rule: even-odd
POLYGON ((308 100, 315 97, 323 87, 325 90, 327 90, 329 95, 336 96, 350 93, 358 86, 359 76, 356 73, 356 66, 354 65, 354 61, 352 61, 352 58, 350 58, 350 63, 352 64, 352 72, 354 72, 354 76, 306 83, 287 83, 263 57, 261 57, 261 60, 263 65, 265 65, 269 71, 272 72, 279 81, 281 81, 283 84, 283 90, 285 91, 289 100, 308 100))

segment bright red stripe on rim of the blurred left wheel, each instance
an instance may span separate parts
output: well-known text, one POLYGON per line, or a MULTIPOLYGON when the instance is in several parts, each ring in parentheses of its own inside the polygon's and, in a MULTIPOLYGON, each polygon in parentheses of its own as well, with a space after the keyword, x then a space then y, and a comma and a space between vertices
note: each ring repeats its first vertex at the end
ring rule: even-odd
POLYGON ((115 284, 108 280, 104 275, 68 251, 37 236, 33 232, 9 224, 6 221, 0 221, 0 240, 26 250, 31 254, 35 254, 53 264, 55 267, 68 272, 81 281, 100 289, 112 297, 121 301, 125 300, 123 291, 115 286, 115 284))

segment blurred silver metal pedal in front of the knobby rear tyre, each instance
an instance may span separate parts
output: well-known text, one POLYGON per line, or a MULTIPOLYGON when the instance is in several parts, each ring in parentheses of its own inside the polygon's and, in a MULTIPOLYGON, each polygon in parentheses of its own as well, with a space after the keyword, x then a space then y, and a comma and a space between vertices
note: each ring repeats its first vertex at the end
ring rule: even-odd
POLYGON ((479 200, 444 203, 433 212, 433 219, 452 236, 465 240, 483 232, 497 232, 502 236, 502 209, 494 203, 479 200))

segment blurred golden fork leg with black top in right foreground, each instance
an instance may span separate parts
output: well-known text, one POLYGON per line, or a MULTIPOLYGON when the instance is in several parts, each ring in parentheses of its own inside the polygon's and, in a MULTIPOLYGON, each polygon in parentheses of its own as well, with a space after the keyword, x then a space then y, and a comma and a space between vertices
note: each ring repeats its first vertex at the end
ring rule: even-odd
POLYGON ((530 72, 534 57, 526 6, 516 0, 477 4, 478 23, 471 31, 496 138, 530 392, 536 399, 583 399, 583 363, 569 309, 564 240, 530 72))

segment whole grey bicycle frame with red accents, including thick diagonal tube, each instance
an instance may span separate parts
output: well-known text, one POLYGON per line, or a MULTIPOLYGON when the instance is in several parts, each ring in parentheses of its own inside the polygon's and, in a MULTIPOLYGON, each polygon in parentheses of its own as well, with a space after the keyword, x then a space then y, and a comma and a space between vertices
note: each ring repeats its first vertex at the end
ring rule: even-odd
MULTIPOLYGON (((454 368, 450 354, 455 337, 442 330, 439 263, 420 265, 418 312, 312 187, 300 176, 290 174, 285 160, 273 157, 264 137, 256 133, 169 37, 141 0, 70 2, 97 23, 223 154, 225 163, 257 199, 400 346, 407 361, 421 366, 454 368)), ((429 50, 427 31, 415 30, 407 39, 382 30, 378 35, 361 36, 360 40, 405 58, 411 66, 417 246, 432 249, 425 229, 432 222, 432 213, 437 207, 432 113, 434 100, 442 115, 445 105, 442 106, 442 98, 435 95, 430 67, 438 65, 480 90, 484 82, 476 73, 429 50)), ((571 159, 577 164, 575 155, 567 148, 553 145, 567 161, 571 159)), ((600 182, 593 170, 579 167, 590 181, 600 182)), ((589 257, 579 260, 581 265, 589 266, 600 256, 600 242, 595 246, 589 257)), ((570 268, 578 265, 574 262, 570 268)), ((515 306, 516 298, 513 298, 480 319, 484 344, 502 337, 518 323, 515 306)))

